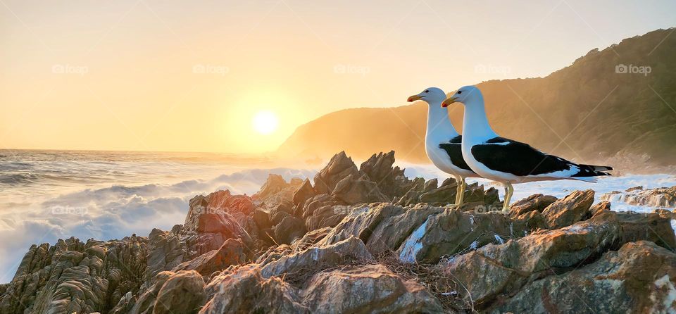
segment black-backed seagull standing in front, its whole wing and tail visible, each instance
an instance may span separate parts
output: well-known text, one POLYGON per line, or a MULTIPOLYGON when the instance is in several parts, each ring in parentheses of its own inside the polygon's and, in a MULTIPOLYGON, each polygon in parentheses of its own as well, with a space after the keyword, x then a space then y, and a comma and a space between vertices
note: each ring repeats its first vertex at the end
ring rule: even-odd
POLYGON ((463 158, 478 175, 505 186, 503 213, 508 213, 509 201, 514 193, 513 183, 544 180, 596 182, 597 176, 610 175, 604 171, 613 170, 603 165, 572 163, 528 144, 499 137, 488 123, 484 96, 477 87, 461 87, 442 106, 448 107, 456 102, 465 105, 461 144, 463 158))

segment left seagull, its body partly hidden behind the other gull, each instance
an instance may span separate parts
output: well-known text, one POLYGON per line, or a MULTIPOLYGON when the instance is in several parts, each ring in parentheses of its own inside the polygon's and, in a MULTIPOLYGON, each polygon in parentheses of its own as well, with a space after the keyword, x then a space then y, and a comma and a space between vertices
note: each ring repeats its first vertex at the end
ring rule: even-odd
POLYGON ((422 100, 427 103, 427 131, 425 132, 425 153, 427 158, 439 168, 455 177, 458 182, 456 191, 456 205, 463 203, 465 195, 466 177, 479 177, 470 166, 465 163, 461 150, 463 136, 449 120, 449 111, 442 108, 446 100, 446 93, 437 87, 425 89, 420 94, 408 97, 408 102, 422 100))

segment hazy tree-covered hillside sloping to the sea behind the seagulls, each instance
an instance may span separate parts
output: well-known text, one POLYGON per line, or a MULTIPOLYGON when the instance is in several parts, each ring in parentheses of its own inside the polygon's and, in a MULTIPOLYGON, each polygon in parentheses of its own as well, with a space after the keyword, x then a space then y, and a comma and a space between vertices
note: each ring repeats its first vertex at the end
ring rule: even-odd
MULTIPOLYGON (((477 84, 489 120, 504 137, 578 162, 613 163, 625 170, 675 165, 676 36, 656 30, 594 49, 547 77, 477 84), (648 65, 649 74, 616 73, 616 65, 648 65)), ((469 82, 468 82, 469 83, 469 82)), ((451 92, 451 88, 446 92, 451 92)), ((408 94, 415 94, 411 89, 408 94)), ((401 99, 406 99, 402 92, 401 99)), ((373 151, 427 162, 424 103, 353 108, 302 125, 278 150, 283 156, 327 158, 345 150, 365 159, 373 151)), ((460 129, 462 106, 451 109, 460 129)))

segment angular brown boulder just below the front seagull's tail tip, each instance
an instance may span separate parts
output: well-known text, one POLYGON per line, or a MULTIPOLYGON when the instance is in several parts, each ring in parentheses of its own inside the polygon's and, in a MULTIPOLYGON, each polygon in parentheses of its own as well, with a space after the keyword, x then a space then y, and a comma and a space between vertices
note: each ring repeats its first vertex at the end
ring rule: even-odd
POLYGON ((569 226, 592 217, 589 208, 594 202, 594 190, 574 191, 542 210, 550 229, 569 226))

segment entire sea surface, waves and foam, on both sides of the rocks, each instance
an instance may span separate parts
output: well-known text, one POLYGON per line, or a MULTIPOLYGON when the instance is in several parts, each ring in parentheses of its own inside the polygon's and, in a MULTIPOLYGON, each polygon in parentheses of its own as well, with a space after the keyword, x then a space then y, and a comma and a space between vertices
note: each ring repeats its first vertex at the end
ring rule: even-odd
MULTIPOLYGON (((360 164, 361 161, 355 161, 360 164)), ((432 165, 398 163, 408 177, 446 178, 432 165)), ((269 173, 312 178, 323 163, 284 167, 279 161, 219 153, 0 150, 0 282, 9 282, 32 244, 147 235, 183 223, 188 201, 230 189, 253 194, 269 173)), ((486 186, 493 183, 478 181, 486 186)), ((534 193, 562 197, 575 189, 602 193, 643 185, 676 185, 673 175, 604 177, 598 183, 531 182, 515 185, 513 201, 534 193)), ((501 187, 496 186, 501 191, 501 187)), ((613 203, 618 211, 653 208, 613 203)))

